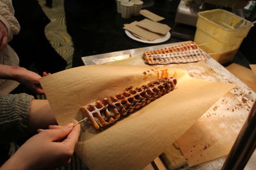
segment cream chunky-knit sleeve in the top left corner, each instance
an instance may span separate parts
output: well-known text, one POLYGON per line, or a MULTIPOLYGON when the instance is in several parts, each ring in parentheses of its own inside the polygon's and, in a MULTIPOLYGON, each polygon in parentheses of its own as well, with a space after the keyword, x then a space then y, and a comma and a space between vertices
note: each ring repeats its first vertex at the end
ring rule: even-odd
POLYGON ((14 17, 12 0, 0 0, 0 21, 3 22, 8 31, 8 41, 11 41, 14 34, 20 31, 20 25, 14 17))

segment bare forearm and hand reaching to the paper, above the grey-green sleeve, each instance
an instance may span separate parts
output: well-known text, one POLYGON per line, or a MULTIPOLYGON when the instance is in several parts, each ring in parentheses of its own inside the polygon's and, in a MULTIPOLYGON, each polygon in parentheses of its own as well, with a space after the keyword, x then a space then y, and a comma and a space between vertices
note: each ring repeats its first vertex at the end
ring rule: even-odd
MULTIPOLYGON (((44 73, 44 76, 47 76, 47 73, 44 73)), ((19 81, 32 92, 35 92, 36 94, 44 94, 44 90, 38 81, 39 78, 42 78, 42 76, 33 71, 29 71, 24 67, 6 66, 0 64, 0 78, 19 81)))

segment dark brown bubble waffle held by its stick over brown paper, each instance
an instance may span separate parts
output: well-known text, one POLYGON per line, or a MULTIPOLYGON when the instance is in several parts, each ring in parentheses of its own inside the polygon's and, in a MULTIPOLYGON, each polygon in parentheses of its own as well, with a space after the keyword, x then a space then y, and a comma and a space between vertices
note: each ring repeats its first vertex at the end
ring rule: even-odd
POLYGON ((176 84, 177 80, 173 77, 152 81, 136 89, 129 88, 121 94, 87 104, 81 107, 81 111, 92 127, 99 130, 170 92, 176 84))

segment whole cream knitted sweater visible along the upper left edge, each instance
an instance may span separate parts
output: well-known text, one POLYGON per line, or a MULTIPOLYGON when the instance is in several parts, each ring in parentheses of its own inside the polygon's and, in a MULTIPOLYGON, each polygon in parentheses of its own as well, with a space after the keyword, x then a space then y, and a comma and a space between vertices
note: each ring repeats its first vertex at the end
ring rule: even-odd
MULTIPOLYGON (((11 41, 14 34, 20 31, 20 25, 14 17, 14 10, 11 0, 0 0, 0 21, 5 25, 8 31, 8 41, 11 41)), ((0 52, 0 64, 9 66, 19 66, 19 57, 17 53, 9 46, 0 52)), ((0 94, 8 94, 19 85, 19 82, 13 80, 0 79, 0 94)))

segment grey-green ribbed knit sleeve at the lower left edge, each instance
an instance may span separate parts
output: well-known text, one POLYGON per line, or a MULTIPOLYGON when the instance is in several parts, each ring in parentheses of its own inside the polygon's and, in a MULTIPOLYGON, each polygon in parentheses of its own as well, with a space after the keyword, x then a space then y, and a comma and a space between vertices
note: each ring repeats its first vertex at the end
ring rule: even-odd
POLYGON ((0 143, 26 136, 32 99, 28 94, 0 94, 0 143))

